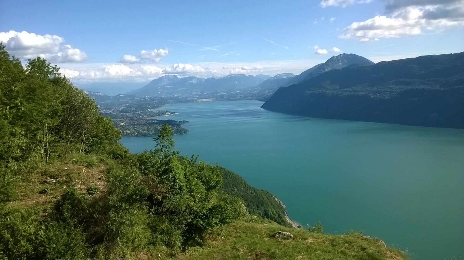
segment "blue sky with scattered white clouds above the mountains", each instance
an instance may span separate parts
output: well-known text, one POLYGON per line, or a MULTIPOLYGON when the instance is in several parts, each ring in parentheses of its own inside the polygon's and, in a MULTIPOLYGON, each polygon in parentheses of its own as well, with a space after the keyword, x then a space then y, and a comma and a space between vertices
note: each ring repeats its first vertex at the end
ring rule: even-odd
POLYGON ((0 40, 11 54, 46 57, 82 83, 299 74, 343 52, 374 62, 461 52, 463 6, 463 0, 0 0, 0 40))

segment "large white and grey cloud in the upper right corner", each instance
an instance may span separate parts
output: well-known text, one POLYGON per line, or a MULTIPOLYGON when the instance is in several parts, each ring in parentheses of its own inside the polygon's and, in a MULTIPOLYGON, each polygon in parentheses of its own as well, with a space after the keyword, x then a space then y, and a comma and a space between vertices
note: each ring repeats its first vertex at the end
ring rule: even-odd
POLYGON ((386 11, 387 15, 352 23, 340 37, 367 42, 464 26, 464 0, 389 0, 386 11))

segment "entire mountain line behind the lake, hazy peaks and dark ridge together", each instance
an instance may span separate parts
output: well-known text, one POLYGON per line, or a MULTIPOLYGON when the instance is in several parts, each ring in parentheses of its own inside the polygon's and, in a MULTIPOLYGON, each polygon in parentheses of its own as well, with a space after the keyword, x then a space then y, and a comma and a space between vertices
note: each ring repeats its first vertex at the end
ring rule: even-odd
POLYGON ((267 110, 315 118, 464 128, 464 52, 374 63, 332 56, 299 75, 231 74, 222 78, 165 75, 99 102, 135 97, 266 101, 267 110))

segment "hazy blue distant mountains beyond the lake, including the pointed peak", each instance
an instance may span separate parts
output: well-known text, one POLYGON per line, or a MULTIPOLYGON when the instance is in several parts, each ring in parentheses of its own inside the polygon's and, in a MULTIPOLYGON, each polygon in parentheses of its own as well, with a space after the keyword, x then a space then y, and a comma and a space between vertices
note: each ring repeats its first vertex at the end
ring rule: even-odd
MULTIPOLYGON (((193 76, 179 78, 177 75, 165 75, 152 80, 146 86, 129 91, 126 94, 137 96, 177 96, 186 98, 214 98, 218 95, 224 98, 226 92, 237 93, 237 96, 254 98, 262 95, 267 99, 278 87, 289 86, 306 80, 317 74, 332 69, 344 68, 351 64, 372 65, 374 62, 354 54, 333 56, 324 63, 318 64, 302 74, 277 74, 273 77, 264 74, 245 75, 230 74, 225 77, 207 79, 193 76)), ((233 99, 229 97, 229 99, 233 99)))

